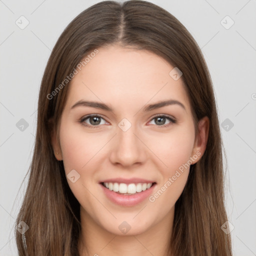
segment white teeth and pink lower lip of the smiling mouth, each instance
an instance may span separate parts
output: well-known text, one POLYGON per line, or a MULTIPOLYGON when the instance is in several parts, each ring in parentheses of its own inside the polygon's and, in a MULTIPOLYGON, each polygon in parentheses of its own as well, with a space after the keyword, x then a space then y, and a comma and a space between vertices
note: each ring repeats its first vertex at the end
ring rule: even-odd
POLYGON ((145 201, 156 188, 156 182, 100 182, 99 185, 106 198, 120 206, 134 206, 139 204, 145 201))

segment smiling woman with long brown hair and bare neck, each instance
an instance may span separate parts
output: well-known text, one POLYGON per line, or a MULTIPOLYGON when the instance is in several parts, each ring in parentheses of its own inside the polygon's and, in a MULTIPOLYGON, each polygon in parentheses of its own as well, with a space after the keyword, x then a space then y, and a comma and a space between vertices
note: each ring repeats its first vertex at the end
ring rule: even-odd
POLYGON ((37 116, 19 255, 232 255, 210 75, 169 12, 139 0, 81 12, 37 116))

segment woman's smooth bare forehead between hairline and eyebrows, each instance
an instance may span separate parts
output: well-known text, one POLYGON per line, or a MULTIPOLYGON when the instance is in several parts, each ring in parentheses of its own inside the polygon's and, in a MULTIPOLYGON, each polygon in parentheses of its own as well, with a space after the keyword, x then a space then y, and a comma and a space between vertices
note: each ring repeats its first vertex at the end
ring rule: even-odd
POLYGON ((67 105, 100 99, 137 108, 146 102, 176 99, 189 109, 182 79, 169 74, 174 66, 150 51, 112 45, 98 48, 88 59, 68 85, 67 105))

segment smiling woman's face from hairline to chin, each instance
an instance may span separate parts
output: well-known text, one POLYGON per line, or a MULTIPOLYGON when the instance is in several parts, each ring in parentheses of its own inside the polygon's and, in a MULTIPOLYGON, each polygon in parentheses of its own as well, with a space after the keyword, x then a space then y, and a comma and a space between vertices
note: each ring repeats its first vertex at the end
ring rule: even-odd
POLYGON ((173 215, 202 155, 205 139, 194 135, 173 68, 148 51, 102 47, 68 85, 55 156, 81 215, 103 231, 134 235, 173 215))

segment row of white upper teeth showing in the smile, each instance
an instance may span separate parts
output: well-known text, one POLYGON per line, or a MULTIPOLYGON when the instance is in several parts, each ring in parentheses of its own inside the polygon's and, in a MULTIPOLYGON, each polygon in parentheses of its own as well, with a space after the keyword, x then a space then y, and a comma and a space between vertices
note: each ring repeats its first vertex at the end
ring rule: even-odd
POLYGON ((152 186, 152 183, 117 183, 117 182, 104 182, 103 185, 109 190, 113 190, 114 192, 119 192, 123 194, 134 194, 144 191, 152 186))

